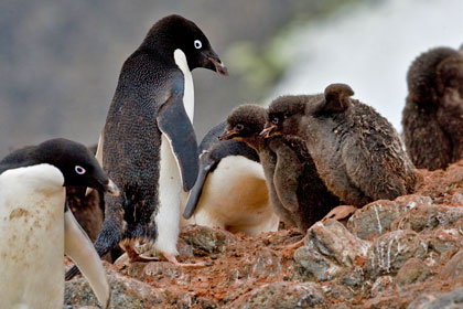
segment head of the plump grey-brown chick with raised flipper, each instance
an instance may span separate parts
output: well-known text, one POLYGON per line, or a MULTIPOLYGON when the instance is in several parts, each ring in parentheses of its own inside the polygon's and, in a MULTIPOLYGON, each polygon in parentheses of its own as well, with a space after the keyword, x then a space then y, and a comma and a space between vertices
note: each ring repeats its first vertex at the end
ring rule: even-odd
POLYGON ((268 110, 261 135, 270 138, 281 135, 297 135, 300 119, 305 113, 308 96, 281 96, 274 99, 268 110))

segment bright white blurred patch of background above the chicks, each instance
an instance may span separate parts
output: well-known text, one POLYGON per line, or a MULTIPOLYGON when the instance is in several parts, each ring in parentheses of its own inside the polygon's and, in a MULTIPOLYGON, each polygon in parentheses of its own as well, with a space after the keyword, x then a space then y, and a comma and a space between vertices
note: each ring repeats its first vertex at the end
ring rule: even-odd
POLYGON ((401 131, 406 74, 434 46, 463 43, 463 1, 389 0, 309 24, 289 39, 293 64, 271 95, 322 93, 346 83, 401 131))

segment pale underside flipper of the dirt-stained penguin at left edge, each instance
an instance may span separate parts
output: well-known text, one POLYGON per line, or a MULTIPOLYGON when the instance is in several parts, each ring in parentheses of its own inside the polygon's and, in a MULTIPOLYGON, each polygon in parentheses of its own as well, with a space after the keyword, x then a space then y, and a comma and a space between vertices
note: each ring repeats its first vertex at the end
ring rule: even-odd
POLYGON ((111 299, 111 289, 108 285, 101 260, 90 239, 67 207, 64 213, 64 253, 73 259, 88 279, 103 308, 108 308, 111 299))

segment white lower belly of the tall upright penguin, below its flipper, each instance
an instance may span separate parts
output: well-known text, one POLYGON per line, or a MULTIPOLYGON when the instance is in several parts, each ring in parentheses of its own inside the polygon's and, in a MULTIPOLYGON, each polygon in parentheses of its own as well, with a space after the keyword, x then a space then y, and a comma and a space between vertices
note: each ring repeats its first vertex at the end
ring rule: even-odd
POLYGON ((153 213, 158 237, 154 248, 162 253, 177 255, 182 180, 176 158, 169 138, 161 135, 161 158, 159 162, 159 205, 153 213))

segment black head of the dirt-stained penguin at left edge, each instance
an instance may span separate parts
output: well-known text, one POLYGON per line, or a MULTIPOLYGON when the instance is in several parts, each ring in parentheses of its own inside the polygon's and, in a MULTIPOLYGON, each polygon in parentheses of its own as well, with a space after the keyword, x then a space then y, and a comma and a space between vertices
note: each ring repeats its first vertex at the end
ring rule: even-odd
POLYGON ((82 143, 64 138, 51 139, 36 146, 29 161, 56 167, 63 173, 64 187, 89 187, 119 194, 117 185, 103 171, 91 151, 82 143))

